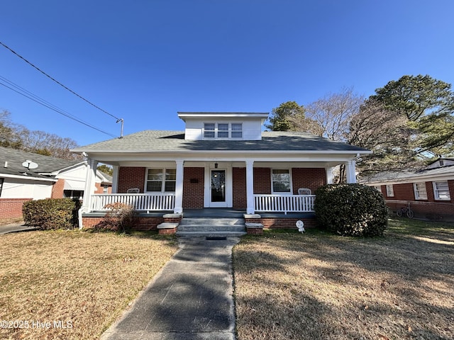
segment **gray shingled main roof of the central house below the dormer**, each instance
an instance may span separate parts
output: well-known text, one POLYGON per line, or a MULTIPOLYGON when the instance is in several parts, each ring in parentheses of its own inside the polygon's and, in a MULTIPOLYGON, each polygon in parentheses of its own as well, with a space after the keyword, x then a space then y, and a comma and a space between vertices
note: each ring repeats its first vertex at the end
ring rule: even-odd
POLYGON ((106 140, 74 152, 101 151, 333 151, 366 152, 342 142, 333 142, 304 132, 262 132, 262 140, 184 140, 184 131, 145 130, 123 138, 106 140))

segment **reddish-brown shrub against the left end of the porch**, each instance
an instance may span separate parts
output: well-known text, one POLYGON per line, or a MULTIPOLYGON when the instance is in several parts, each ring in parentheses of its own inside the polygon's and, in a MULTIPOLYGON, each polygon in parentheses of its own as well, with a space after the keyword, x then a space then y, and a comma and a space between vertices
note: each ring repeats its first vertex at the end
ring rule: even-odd
POLYGON ((104 218, 99 222, 95 230, 111 230, 113 232, 131 232, 133 225, 134 208, 131 205, 116 202, 106 205, 109 209, 104 218))

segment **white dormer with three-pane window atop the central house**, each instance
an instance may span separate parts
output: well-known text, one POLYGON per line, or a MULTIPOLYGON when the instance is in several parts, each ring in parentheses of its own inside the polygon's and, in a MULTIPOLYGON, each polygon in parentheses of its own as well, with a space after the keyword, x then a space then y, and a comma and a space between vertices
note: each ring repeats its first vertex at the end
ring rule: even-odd
POLYGON ((268 113, 179 112, 185 140, 262 140, 268 113))

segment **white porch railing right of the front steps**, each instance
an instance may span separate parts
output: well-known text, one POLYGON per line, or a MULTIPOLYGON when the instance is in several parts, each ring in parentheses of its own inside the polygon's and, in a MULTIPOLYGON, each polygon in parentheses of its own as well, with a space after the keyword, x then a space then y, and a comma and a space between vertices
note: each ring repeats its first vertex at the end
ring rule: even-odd
POLYGON ((254 195, 257 212, 314 212, 315 195, 254 195))

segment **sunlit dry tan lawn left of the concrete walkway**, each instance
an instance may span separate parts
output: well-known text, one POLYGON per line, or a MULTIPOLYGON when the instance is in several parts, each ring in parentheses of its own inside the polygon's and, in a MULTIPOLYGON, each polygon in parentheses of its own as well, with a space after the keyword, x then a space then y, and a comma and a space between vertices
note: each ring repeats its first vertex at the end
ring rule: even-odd
POLYGON ((144 234, 2 235, 0 320, 28 329, 0 328, 0 339, 98 339, 176 250, 173 239, 144 234))

